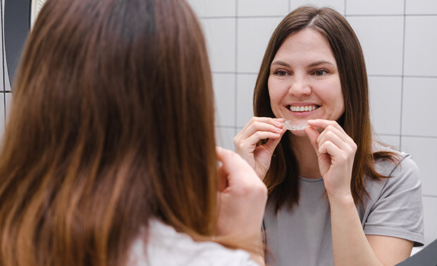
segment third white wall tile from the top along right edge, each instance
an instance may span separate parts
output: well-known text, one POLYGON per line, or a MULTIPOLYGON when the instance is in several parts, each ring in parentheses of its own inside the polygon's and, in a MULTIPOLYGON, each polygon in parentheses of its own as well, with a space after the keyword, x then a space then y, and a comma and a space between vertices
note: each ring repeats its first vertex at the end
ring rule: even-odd
POLYGON ((437 137, 437 78, 404 78, 402 135, 437 137))

